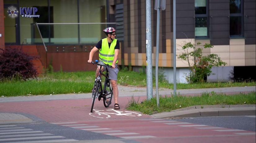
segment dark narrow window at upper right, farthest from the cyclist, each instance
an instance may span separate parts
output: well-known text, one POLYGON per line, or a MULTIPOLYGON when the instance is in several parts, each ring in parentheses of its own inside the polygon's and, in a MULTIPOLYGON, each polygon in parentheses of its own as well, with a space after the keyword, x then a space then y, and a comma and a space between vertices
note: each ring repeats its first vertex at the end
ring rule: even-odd
POLYGON ((243 36, 243 12, 242 12, 242 0, 230 0, 229 1, 229 34, 230 37, 242 37, 243 36))

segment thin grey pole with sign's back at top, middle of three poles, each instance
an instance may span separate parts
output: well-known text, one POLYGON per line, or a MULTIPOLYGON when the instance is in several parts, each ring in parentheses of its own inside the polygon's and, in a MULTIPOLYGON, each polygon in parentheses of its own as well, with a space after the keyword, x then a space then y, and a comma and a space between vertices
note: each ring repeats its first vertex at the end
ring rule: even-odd
POLYGON ((159 24, 160 23, 160 0, 157 0, 157 20, 156 20, 156 57, 155 57, 155 92, 156 103, 159 106, 159 92, 158 92, 158 56, 159 56, 159 24))

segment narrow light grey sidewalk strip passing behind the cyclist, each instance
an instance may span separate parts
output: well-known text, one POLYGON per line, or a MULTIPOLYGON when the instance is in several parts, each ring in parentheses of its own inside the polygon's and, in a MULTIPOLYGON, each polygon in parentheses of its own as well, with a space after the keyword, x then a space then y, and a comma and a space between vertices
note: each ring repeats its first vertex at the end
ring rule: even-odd
MULTIPOLYGON (((124 96, 146 96, 146 87, 118 86, 119 97, 124 96)), ((181 95, 200 95, 203 92, 216 92, 234 94, 240 92, 256 91, 256 86, 245 87, 225 87, 225 88, 204 88, 204 89, 181 89, 177 90, 177 94, 181 95)), ((173 90, 159 90, 159 95, 171 95, 173 90)), ((153 91, 155 95, 155 91, 153 91)), ((37 95, 37 96, 17 96, 17 97, 0 97, 1 102, 17 102, 17 101, 40 101, 40 100, 61 100, 61 99, 85 99, 91 98, 91 93, 85 94, 60 94, 60 95, 37 95)))

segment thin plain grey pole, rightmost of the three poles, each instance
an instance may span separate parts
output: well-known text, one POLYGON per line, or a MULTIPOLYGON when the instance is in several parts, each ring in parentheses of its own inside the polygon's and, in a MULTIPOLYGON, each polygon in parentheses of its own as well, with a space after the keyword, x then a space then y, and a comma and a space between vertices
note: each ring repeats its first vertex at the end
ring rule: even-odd
POLYGON ((176 0, 173 0, 173 95, 176 95, 176 0))

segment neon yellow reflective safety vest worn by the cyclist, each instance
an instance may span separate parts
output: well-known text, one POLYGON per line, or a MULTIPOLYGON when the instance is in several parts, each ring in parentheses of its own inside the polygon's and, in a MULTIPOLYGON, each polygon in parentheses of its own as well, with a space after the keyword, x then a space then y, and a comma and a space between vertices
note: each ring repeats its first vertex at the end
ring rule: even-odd
MULTIPOLYGON (((99 59, 103 61, 105 64, 112 65, 112 62, 115 57, 116 41, 117 39, 114 39, 109 48, 107 38, 102 39, 101 50, 99 52, 99 59)), ((117 62, 118 60, 116 61, 116 63, 117 62)))

